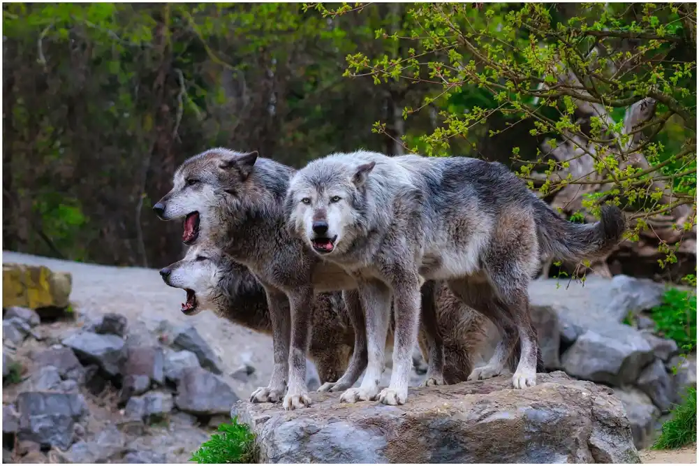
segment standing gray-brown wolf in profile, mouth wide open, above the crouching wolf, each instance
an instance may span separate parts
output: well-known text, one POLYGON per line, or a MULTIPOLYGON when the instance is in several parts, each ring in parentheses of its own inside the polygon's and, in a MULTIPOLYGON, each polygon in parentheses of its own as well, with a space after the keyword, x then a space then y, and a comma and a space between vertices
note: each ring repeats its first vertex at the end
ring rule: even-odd
MULTIPOLYGON (((185 243, 196 244, 202 238, 212 241, 250 269, 264 288, 275 366, 268 386, 255 390, 251 400, 275 402, 288 385, 285 409, 310 404, 305 358, 312 329, 309 304, 315 294, 343 290, 353 326, 364 325, 354 277, 322 260, 285 227, 283 202, 292 174, 291 167, 258 157, 257 152, 214 148, 186 160, 175 171, 172 190, 153 206, 163 220, 185 219, 185 243)), ((426 311, 433 309, 427 306, 426 311)), ((432 332, 435 317, 426 314, 423 318, 427 338, 433 341, 426 384, 442 383, 442 340, 432 332)), ((329 390, 352 386, 366 366, 366 334, 354 332, 354 337, 347 372, 329 390)))

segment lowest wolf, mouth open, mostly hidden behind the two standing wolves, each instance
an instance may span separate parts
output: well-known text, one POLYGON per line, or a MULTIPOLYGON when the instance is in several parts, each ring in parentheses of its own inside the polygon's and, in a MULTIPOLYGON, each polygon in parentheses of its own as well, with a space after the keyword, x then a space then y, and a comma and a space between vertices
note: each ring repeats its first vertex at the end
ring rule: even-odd
MULTIPOLYGON (((264 288, 244 265, 231 260, 203 241, 192 246, 185 257, 161 270, 165 283, 187 293, 182 312, 192 316, 210 310, 217 316, 256 332, 270 334, 272 322, 264 288)), ((466 381, 474 367, 487 333, 484 317, 468 309, 445 282, 436 285, 434 306, 444 341, 446 383, 466 381)), ((341 292, 319 293, 312 301, 312 332, 309 356, 326 387, 340 379, 349 364, 354 346, 354 327, 341 292)), ((389 329, 387 345, 393 346, 389 329)), ((363 332, 364 328, 360 327, 363 332)), ((424 358, 428 342, 419 333, 424 358)), ((414 362, 415 363, 415 362, 414 362)))

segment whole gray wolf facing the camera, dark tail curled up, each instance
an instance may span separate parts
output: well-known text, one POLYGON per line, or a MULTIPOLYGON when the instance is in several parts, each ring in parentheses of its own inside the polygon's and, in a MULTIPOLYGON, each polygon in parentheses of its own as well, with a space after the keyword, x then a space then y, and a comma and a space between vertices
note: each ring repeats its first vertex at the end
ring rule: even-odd
POLYGON ((365 400, 377 389, 394 297, 394 372, 380 395, 389 404, 407 397, 421 281, 448 281, 454 295, 500 330, 493 357, 470 379, 500 374, 514 350, 514 388, 533 386, 540 355, 527 288, 540 257, 601 255, 625 230, 613 206, 603 207, 593 225, 562 220, 503 164, 468 157, 328 155, 294 174, 285 210, 296 236, 359 283, 368 369, 361 387, 343 394, 348 399, 365 400))

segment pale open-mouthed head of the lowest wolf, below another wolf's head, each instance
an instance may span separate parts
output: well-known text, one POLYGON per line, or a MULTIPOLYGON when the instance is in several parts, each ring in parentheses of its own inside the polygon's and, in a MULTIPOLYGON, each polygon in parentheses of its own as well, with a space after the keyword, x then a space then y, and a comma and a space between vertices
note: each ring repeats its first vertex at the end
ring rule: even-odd
POLYGON ((161 269, 160 276, 166 285, 182 288, 187 301, 182 303, 182 313, 195 316, 201 311, 215 311, 217 287, 221 281, 220 250, 208 242, 202 242, 187 250, 182 260, 161 269))

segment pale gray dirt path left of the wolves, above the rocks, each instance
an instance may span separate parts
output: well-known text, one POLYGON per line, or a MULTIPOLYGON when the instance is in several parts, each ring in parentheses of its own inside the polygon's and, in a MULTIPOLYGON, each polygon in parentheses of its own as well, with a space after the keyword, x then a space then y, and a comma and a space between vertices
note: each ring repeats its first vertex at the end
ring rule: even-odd
POLYGON ((185 316, 180 312, 185 292, 165 285, 156 269, 82 264, 8 251, 3 251, 2 261, 45 265, 55 271, 70 272, 73 275, 71 302, 89 318, 116 312, 126 316, 129 324, 141 323, 150 330, 161 320, 172 325, 194 325, 221 356, 226 375, 245 363, 255 367, 256 372, 247 382, 226 376, 239 397, 247 397, 257 386, 266 385, 271 376, 271 338, 210 312, 185 316))

